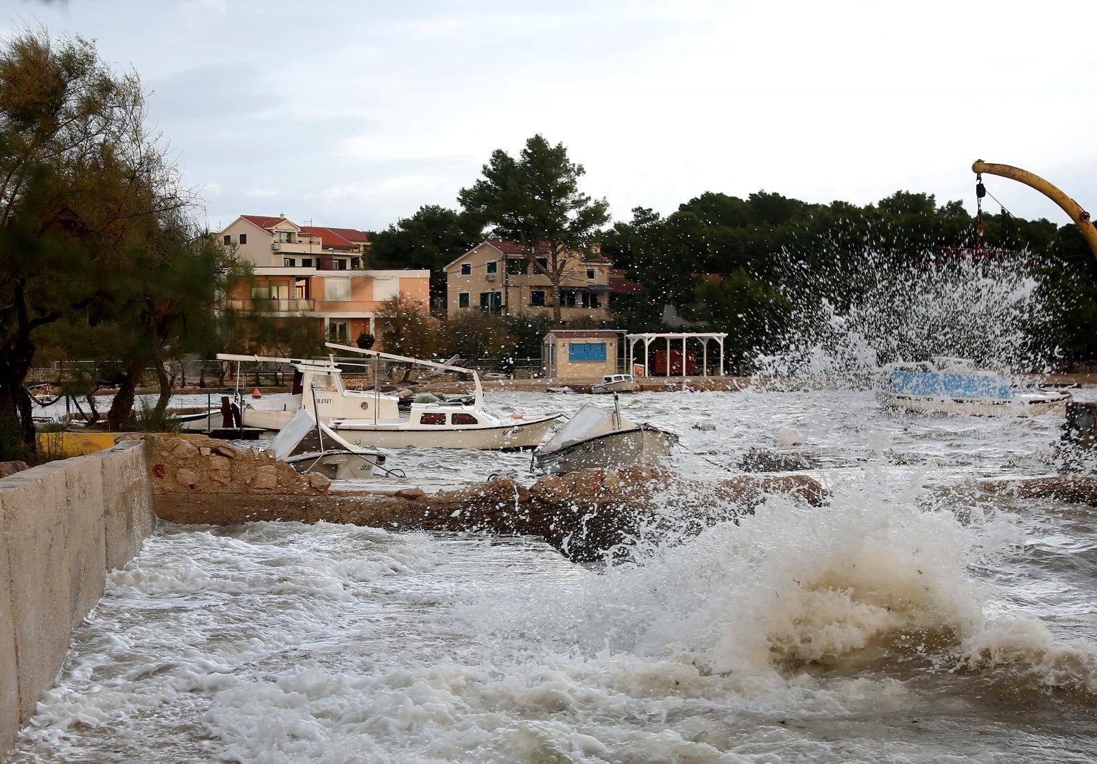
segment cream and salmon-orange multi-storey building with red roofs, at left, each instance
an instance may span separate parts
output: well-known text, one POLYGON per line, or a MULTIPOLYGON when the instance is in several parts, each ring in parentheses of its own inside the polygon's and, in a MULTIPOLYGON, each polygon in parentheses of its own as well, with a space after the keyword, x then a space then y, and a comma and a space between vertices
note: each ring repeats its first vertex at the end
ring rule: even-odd
POLYGON ((219 237, 252 266, 251 278, 227 297, 236 310, 313 318, 329 341, 353 342, 376 335, 376 312, 396 295, 429 309, 430 271, 369 269, 364 231, 241 215, 219 237))

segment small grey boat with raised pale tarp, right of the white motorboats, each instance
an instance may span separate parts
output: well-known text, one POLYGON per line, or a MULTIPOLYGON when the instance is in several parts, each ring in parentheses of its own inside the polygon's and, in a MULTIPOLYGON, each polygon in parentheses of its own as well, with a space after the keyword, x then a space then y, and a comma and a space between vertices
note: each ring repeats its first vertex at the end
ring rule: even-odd
POLYGON ((580 469, 617 469, 652 464, 669 456, 678 436, 651 424, 636 424, 613 409, 584 406, 551 441, 533 452, 545 472, 564 475, 580 469))

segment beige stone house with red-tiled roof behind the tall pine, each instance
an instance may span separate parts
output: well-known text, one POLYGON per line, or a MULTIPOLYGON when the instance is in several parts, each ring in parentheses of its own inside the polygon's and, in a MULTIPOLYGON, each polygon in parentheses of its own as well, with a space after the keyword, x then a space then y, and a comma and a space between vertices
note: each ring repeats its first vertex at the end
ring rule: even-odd
MULTIPOLYGON (((548 246, 542 244, 534 256, 547 262, 548 251, 548 246)), ((565 256, 561 318, 565 322, 579 317, 607 320, 612 263, 597 252, 568 250, 565 256)), ((517 241, 488 239, 444 270, 449 318, 474 309, 504 316, 553 310, 552 282, 529 262, 529 254, 517 241)))

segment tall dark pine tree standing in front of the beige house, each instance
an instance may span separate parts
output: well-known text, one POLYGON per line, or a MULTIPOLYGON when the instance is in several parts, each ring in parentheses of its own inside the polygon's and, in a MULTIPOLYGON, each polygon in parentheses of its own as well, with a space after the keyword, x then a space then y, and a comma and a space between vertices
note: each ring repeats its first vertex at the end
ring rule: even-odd
POLYGON ((568 159, 564 144, 552 146, 539 134, 525 141, 518 159, 496 149, 483 168, 484 176, 457 195, 468 213, 494 226, 497 236, 520 242, 533 269, 548 278, 557 323, 567 252, 587 249, 609 220, 606 199, 579 191, 585 172, 568 159), (534 256, 542 246, 547 247, 545 256, 534 256))

